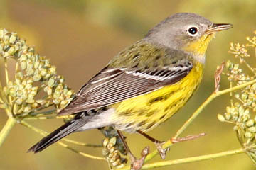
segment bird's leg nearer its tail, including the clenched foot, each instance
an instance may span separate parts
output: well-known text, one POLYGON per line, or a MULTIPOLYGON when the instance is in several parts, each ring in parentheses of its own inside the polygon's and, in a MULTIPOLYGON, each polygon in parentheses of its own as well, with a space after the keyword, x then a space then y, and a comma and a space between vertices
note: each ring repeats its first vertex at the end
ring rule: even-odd
POLYGON ((142 165, 144 164, 144 159, 146 158, 146 155, 149 154, 149 147, 145 147, 142 150, 142 157, 140 159, 137 159, 134 154, 132 154, 131 150, 129 149, 127 142, 124 140, 124 136, 122 135, 122 132, 117 130, 117 134, 119 135, 120 139, 122 140, 125 149, 127 150, 127 153, 131 159, 131 170, 139 170, 142 168, 142 165))

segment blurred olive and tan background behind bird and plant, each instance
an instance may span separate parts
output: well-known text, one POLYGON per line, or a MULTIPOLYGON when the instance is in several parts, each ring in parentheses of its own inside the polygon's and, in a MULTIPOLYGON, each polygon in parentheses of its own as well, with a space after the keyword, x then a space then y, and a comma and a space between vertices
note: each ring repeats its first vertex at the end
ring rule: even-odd
MULTIPOLYGON (((203 84, 188 104, 163 125, 149 132, 159 140, 168 140, 193 111, 206 100, 214 89, 214 72, 223 60, 232 59, 228 54, 230 42, 245 42, 245 37, 256 30, 256 1, 169 1, 169 0, 0 0, 0 28, 18 33, 29 45, 35 46, 40 55, 46 55, 55 65, 58 74, 78 91, 107 62, 124 47, 143 38, 147 30, 167 16, 178 12, 198 13, 216 23, 233 23, 234 28, 219 33, 211 42, 206 61, 203 84)), ((223 77, 221 89, 228 87, 223 77)), ((233 126, 220 123, 218 113, 225 113, 228 95, 221 96, 203 111, 182 136, 206 132, 205 137, 171 147, 166 160, 213 154, 240 148, 233 126)), ((0 115, 0 128, 6 122, 0 115)), ((29 123, 48 132, 63 124, 62 120, 30 120, 29 123)), ((154 145, 144 137, 126 134, 132 152, 139 157, 141 150, 154 145)), ((0 148, 0 169, 108 169, 107 163, 81 157, 59 145, 52 145, 39 154, 27 154, 31 145, 41 135, 16 125, 0 148)), ((69 136, 82 142, 100 143, 103 136, 97 130, 69 136)), ((75 146, 76 147, 76 146, 75 146)), ((88 154, 101 156, 102 149, 77 147, 88 154)), ((160 160, 154 158, 151 162, 160 160)), ((230 157, 168 166, 158 169, 255 169, 245 154, 230 157)))

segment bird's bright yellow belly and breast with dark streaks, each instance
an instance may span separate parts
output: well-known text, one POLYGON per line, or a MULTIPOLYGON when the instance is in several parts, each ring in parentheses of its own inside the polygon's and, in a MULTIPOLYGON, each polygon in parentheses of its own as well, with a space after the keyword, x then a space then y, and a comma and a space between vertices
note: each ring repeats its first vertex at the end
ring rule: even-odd
POLYGON ((203 77, 203 64, 197 63, 191 72, 176 84, 149 94, 129 98, 114 104, 114 125, 119 130, 147 131, 171 118, 198 88, 203 77))

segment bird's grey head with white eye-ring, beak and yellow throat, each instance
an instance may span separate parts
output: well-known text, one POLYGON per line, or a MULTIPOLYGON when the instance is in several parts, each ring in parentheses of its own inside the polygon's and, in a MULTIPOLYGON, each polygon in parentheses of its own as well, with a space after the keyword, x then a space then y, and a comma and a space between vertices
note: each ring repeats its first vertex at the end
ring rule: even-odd
POLYGON ((195 13, 176 13, 149 30, 144 40, 176 50, 204 54, 215 33, 228 28, 232 25, 215 24, 195 13))

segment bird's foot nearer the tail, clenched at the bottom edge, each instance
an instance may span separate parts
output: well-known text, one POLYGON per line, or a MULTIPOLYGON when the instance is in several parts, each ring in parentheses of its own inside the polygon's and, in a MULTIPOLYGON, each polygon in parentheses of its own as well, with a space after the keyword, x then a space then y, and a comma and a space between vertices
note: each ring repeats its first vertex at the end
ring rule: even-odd
POLYGON ((142 157, 140 159, 137 159, 134 157, 134 155, 130 154, 131 157, 131 170, 139 170, 142 168, 142 165, 144 164, 144 160, 146 158, 146 155, 149 154, 149 147, 145 147, 142 150, 142 157))

